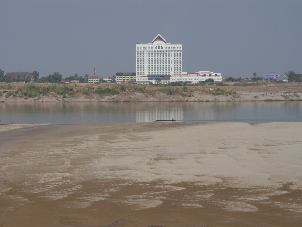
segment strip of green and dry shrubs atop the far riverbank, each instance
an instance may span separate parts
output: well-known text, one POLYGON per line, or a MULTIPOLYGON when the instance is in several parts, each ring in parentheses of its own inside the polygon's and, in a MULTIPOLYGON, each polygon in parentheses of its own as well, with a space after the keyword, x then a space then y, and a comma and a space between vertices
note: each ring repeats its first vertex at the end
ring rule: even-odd
MULTIPOLYGON (((83 94, 90 96, 97 94, 100 96, 112 96, 121 93, 135 94, 140 93, 148 96, 165 94, 181 95, 183 97, 192 97, 194 92, 201 92, 208 95, 236 95, 233 89, 214 88, 209 89, 203 86, 155 86, 155 85, 137 85, 137 84, 21 84, 21 83, 0 83, 0 93, 6 98, 13 97, 38 97, 48 96, 51 93, 62 95, 63 98, 83 94)), ((0 96, 1 96, 0 95, 0 96)))

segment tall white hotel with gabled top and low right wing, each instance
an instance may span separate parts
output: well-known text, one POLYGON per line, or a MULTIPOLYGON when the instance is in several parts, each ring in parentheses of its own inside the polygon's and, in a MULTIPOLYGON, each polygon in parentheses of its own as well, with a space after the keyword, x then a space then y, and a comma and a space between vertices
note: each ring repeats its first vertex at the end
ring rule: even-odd
POLYGON ((158 34, 151 43, 136 44, 136 83, 149 84, 189 81, 198 83, 206 79, 222 81, 220 73, 199 71, 182 72, 182 43, 172 44, 158 34))

